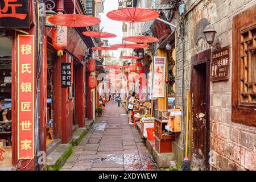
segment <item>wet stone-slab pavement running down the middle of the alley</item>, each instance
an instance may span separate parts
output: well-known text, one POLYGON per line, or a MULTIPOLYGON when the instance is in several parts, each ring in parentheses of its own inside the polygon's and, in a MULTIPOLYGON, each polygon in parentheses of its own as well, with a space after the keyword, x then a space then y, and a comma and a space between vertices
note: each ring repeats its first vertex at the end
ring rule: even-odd
POLYGON ((158 166, 137 129, 128 125, 125 110, 110 101, 61 170, 155 171, 158 166))

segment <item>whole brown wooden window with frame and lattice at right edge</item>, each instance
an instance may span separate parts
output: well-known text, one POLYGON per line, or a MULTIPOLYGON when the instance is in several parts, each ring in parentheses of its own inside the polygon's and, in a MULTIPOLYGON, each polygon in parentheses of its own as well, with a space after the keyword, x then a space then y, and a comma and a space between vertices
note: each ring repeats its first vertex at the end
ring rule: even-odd
POLYGON ((232 122, 256 126, 256 5, 233 18, 232 122))

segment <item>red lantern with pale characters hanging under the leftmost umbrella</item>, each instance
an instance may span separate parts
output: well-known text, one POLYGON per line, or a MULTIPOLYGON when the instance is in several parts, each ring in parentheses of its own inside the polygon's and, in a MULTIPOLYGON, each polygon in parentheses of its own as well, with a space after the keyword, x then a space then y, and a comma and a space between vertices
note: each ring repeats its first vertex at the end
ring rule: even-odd
POLYGON ((63 56, 63 50, 68 44, 68 27, 56 26, 52 28, 52 45, 58 51, 58 56, 63 56))

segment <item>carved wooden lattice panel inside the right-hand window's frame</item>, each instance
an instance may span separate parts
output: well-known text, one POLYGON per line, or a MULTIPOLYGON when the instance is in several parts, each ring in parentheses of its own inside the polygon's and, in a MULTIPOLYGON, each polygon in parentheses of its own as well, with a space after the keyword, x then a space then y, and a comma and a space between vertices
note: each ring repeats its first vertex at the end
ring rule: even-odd
POLYGON ((241 31, 240 105, 256 105, 256 26, 241 31))

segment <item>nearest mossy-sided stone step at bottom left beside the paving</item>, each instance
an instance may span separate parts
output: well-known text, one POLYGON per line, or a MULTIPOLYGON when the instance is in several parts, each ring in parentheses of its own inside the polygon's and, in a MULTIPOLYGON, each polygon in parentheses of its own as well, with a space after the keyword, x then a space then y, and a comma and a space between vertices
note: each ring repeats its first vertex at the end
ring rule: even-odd
POLYGON ((72 154, 72 144, 60 144, 46 158, 45 171, 59 171, 72 154))

